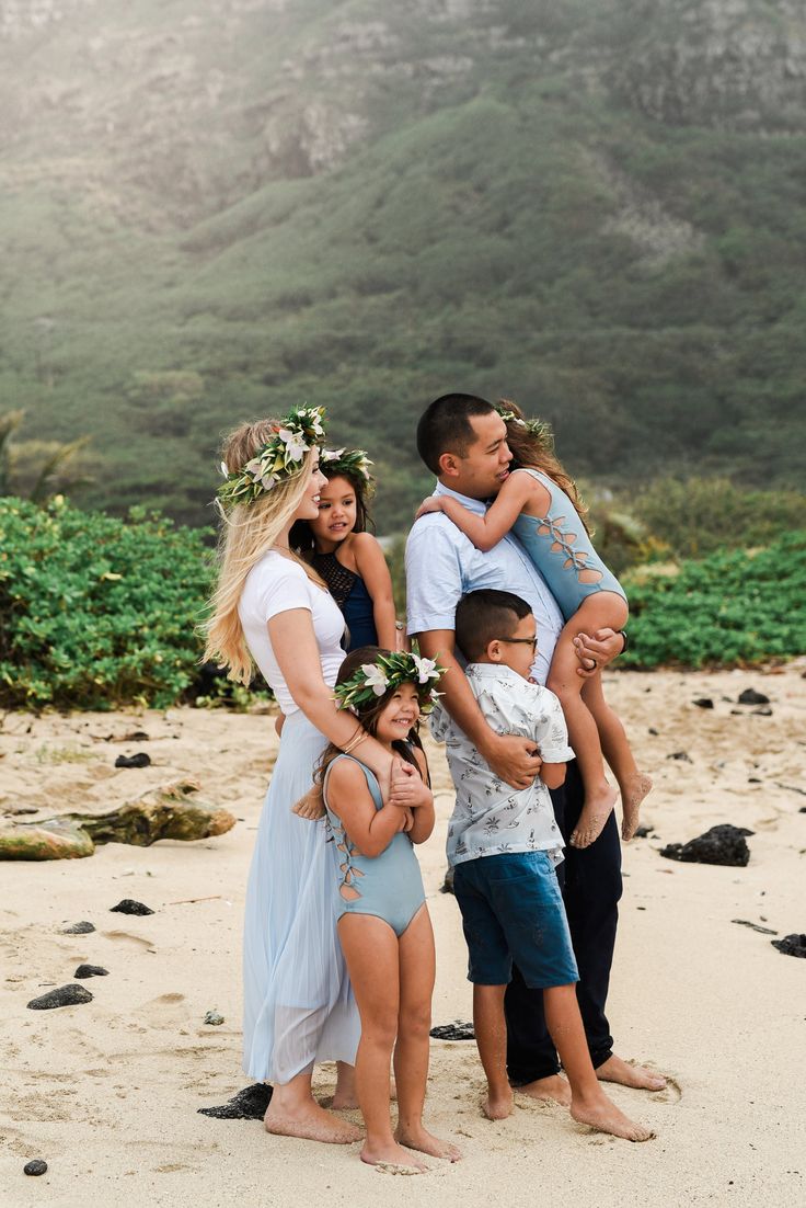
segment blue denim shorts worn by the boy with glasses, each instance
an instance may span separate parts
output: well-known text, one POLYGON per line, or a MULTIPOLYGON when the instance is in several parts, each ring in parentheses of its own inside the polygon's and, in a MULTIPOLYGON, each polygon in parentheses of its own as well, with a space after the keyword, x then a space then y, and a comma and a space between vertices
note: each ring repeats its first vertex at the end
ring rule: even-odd
POLYGON ((554 864, 545 852, 467 860, 454 893, 468 948, 468 981, 506 986, 518 965, 530 989, 579 981, 554 864))

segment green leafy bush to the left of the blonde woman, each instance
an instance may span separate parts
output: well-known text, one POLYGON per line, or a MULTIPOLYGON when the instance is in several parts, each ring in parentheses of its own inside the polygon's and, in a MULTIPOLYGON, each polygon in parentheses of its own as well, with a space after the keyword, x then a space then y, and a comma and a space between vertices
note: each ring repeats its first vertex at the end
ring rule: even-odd
POLYGON ((165 707, 192 686, 206 532, 0 499, 0 704, 165 707))

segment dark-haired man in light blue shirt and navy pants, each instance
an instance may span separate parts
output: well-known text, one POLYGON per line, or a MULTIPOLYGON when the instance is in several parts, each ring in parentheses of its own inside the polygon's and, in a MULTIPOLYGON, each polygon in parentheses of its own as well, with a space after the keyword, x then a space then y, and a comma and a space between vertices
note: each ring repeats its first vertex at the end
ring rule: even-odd
MULTIPOLYGON (((450 394, 426 408, 417 425, 417 449, 437 476, 437 493, 450 493, 472 511, 484 512, 509 475, 512 453, 507 428, 491 403, 474 395, 450 394)), ((561 612, 545 582, 519 541, 507 535, 486 553, 477 550, 443 512, 417 519, 405 547, 408 632, 428 658, 448 668, 440 684, 442 704, 478 749, 495 774, 516 789, 532 783, 541 767, 528 738, 497 734, 486 724, 455 651, 455 612, 461 597, 481 587, 520 596, 531 606, 539 638, 532 674, 545 683, 551 652, 562 628, 561 612)), ((579 673, 586 675, 624 649, 621 634, 602 629, 577 639, 579 673)), ((573 830, 583 805, 576 762, 563 790, 553 792, 557 824, 573 830)), ((613 1053, 604 1015, 621 896, 621 852, 615 815, 586 848, 567 847, 565 901, 580 981, 579 1009, 591 1061, 600 1079, 644 1090, 661 1090, 665 1079, 630 1065, 613 1053)), ((542 997, 530 991, 518 970, 507 991, 507 1063, 513 1082, 537 1098, 571 1102, 568 1084, 545 1028, 542 997)))

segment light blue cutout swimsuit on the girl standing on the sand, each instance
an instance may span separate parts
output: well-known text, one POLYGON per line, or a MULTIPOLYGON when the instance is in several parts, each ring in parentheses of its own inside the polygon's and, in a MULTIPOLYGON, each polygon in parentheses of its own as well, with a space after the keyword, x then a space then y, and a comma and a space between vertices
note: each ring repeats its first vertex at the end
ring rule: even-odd
POLYGON ((422 888, 422 873, 414 854, 411 840, 404 831, 398 831, 391 843, 380 855, 361 855, 350 841, 341 819, 327 803, 327 780, 331 768, 340 759, 357 763, 367 778, 367 788, 372 794, 376 809, 384 808, 380 785, 375 773, 351 755, 337 755, 325 776, 325 807, 327 820, 333 832, 338 855, 339 898, 343 914, 373 914, 382 918, 399 939, 426 900, 422 888))

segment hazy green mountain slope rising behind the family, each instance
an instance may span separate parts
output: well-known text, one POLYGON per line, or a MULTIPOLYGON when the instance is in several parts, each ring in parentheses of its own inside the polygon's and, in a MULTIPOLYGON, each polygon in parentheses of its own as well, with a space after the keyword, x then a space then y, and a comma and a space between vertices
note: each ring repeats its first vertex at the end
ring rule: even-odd
POLYGON ((0 406, 89 504, 209 517, 306 399, 402 528, 450 388, 611 486, 802 480, 795 0, 6 0, 0 80, 0 406))

